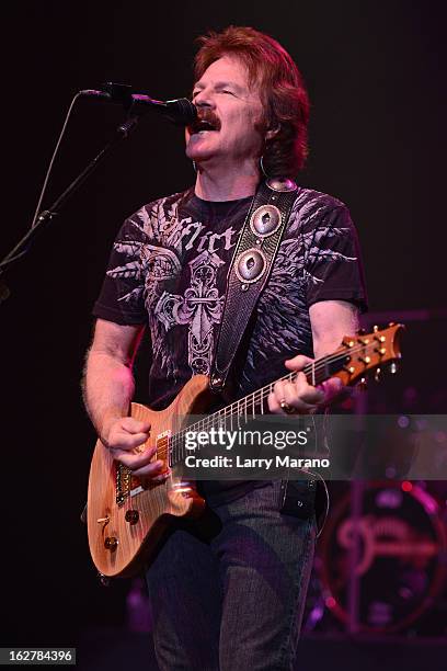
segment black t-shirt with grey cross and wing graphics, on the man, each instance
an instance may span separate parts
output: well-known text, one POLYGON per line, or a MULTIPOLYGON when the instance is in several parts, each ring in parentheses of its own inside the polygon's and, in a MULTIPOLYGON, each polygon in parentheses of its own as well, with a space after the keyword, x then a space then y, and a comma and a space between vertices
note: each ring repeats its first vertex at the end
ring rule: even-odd
MULTIPOLYGON (((191 189, 145 205, 118 232, 93 314, 148 325, 153 359, 149 398, 141 400, 153 409, 210 371, 227 274, 251 201, 214 203, 191 189)), ((309 308, 332 299, 366 308, 357 236, 343 203, 299 189, 237 366, 237 398, 283 376, 285 359, 313 355, 309 308)))

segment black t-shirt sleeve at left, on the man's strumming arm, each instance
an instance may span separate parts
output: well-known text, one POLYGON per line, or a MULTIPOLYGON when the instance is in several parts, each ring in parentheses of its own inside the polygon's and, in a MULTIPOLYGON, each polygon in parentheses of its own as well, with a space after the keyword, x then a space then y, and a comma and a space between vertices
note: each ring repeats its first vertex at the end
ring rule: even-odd
POLYGON ((145 234, 131 217, 123 224, 108 260, 93 315, 121 325, 147 322, 141 247, 145 234))

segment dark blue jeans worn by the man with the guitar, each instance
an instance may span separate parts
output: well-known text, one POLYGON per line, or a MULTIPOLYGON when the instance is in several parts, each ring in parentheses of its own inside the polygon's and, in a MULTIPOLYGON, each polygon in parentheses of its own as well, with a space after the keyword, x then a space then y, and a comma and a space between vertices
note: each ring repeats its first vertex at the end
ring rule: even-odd
POLYGON ((161 671, 294 669, 316 522, 280 514, 279 486, 169 533, 147 571, 161 671))

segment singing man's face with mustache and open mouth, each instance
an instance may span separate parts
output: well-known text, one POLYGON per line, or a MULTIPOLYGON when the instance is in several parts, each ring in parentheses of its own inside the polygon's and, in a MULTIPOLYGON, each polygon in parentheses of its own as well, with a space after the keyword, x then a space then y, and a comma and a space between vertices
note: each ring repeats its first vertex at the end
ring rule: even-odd
POLYGON ((224 56, 213 62, 195 84, 193 102, 199 121, 186 128, 190 159, 222 166, 257 160, 263 138, 255 125, 262 118, 262 103, 257 90, 249 88, 240 60, 224 56))

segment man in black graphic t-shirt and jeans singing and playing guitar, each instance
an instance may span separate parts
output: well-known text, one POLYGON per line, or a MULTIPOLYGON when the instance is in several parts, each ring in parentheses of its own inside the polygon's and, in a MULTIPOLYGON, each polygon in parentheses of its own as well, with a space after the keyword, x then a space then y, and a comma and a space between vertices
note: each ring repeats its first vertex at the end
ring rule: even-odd
MULTIPOLYGON (((131 362, 145 328, 153 360, 151 408, 209 374, 238 236, 262 180, 294 179, 307 153, 309 103, 287 52, 250 27, 202 38, 197 122, 186 129, 192 189, 145 205, 112 252, 89 352, 85 403, 113 457, 163 481, 150 427, 128 417, 131 362)), ((357 329, 365 289, 346 207, 298 187, 267 284, 233 366, 234 398, 302 371, 357 329)), ((340 393, 303 373, 278 382, 273 413, 309 413, 340 393)), ((314 515, 280 512, 280 482, 202 482, 207 514, 172 525, 147 571, 159 668, 293 669, 316 538, 314 515)))

